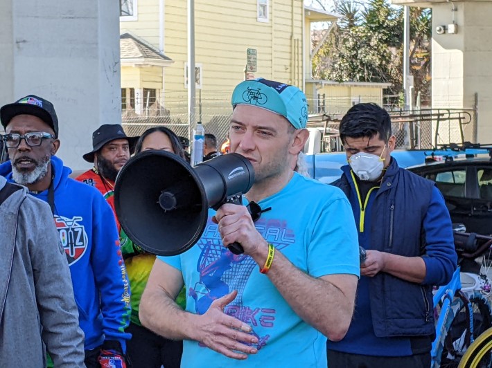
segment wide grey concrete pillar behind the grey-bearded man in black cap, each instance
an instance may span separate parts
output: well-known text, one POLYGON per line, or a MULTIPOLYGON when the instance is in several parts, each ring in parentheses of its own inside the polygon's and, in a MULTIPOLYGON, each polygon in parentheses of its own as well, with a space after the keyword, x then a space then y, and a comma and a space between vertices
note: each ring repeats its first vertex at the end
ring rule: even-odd
POLYGON ((55 105, 73 169, 89 167, 91 133, 121 123, 119 4, 106 0, 2 0, 0 104, 34 93, 55 105))

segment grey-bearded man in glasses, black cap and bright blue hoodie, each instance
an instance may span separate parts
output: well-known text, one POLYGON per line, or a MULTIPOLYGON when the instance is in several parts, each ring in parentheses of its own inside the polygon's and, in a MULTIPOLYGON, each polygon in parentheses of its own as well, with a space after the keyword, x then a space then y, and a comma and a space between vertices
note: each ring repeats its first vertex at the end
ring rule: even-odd
POLYGON ((124 366, 130 288, 111 208, 98 190, 69 178, 71 169, 55 156, 60 140, 51 102, 28 95, 1 107, 0 120, 10 156, 0 175, 51 208, 85 333, 85 365, 112 359, 124 366))

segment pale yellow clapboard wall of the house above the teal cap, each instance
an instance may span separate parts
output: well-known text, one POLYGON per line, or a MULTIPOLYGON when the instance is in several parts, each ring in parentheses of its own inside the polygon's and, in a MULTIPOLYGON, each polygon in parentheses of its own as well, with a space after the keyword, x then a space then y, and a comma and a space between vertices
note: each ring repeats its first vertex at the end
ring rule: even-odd
MULTIPOLYGON (((292 1, 270 0, 268 23, 256 20, 256 0, 195 1, 195 62, 203 68, 202 95, 207 91, 230 91, 243 80, 247 48, 256 48, 258 52, 256 77, 301 83, 304 13, 302 1, 294 0, 293 3, 297 31, 291 39, 292 1), (293 57, 292 49, 298 50, 299 55, 293 57)), ((186 3, 166 0, 165 53, 175 61, 173 66, 166 68, 166 91, 169 92, 186 91, 184 20, 186 3)))

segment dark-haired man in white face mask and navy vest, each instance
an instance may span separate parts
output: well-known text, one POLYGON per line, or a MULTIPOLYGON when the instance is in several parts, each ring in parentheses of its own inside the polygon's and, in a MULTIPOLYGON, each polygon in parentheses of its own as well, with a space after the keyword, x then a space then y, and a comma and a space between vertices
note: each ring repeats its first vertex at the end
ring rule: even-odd
POLYGON ((333 183, 352 205, 360 266, 355 312, 331 367, 430 367, 432 285, 449 282, 457 256, 443 196, 432 181, 398 167, 389 114, 356 104, 340 122, 349 165, 333 183))

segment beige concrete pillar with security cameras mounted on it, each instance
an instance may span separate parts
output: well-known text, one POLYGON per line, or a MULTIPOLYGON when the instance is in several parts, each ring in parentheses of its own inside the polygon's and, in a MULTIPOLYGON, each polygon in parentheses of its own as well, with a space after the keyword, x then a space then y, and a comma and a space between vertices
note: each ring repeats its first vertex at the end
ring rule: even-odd
MULTIPOLYGON (((478 97, 477 136, 492 141, 492 1, 432 4, 432 107, 472 108, 478 97), (449 33, 453 24, 457 33, 449 33), (437 27, 445 26, 444 33, 437 27)), ((473 139, 466 128, 465 138, 473 139)))

